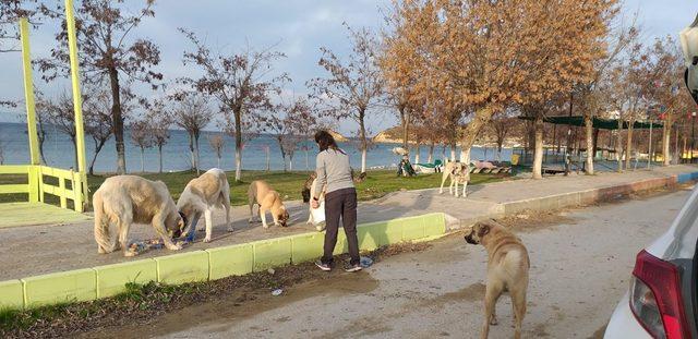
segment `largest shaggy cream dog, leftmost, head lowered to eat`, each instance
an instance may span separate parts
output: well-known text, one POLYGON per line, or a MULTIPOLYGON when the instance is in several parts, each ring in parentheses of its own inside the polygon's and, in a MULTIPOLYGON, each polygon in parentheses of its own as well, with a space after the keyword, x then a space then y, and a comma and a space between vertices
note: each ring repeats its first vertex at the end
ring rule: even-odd
POLYGON ((167 249, 182 249, 172 243, 172 238, 179 238, 185 225, 164 182, 135 175, 111 177, 99 186, 93 199, 98 253, 111 253, 121 247, 123 255, 135 255, 127 247, 133 222, 151 223, 167 249), (117 226, 119 234, 113 243, 109 239, 111 223, 117 226))

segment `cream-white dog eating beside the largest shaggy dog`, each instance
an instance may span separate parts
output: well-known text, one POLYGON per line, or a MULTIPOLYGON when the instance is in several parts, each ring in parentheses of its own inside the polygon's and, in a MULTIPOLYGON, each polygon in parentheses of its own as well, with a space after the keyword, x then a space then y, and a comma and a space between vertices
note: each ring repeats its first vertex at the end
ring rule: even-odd
POLYGON ((184 231, 186 240, 194 240, 196 223, 203 214, 206 220, 206 238, 204 238, 204 242, 210 241, 214 222, 213 209, 216 207, 226 210, 226 225, 228 226, 228 231, 232 232, 228 178, 221 169, 212 168, 201 177, 192 179, 177 201, 177 209, 188 223, 184 231))

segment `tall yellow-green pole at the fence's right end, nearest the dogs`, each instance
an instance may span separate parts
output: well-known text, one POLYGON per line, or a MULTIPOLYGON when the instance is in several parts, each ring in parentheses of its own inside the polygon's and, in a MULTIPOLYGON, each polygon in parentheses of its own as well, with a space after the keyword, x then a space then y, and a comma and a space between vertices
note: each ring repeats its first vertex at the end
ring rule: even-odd
MULTIPOLYGON (((65 0, 65 23, 68 25, 68 47, 70 50, 70 77, 73 85, 73 110, 75 111, 75 137, 77 147, 77 172, 83 184, 83 198, 89 202, 87 194, 87 171, 85 161, 85 131, 83 125, 83 104, 80 90, 80 70, 77 60, 77 34, 75 32, 75 14, 73 0, 65 0)), ((83 211, 82 202, 75 202, 75 210, 83 211), (77 206, 80 205, 80 206, 77 206)))

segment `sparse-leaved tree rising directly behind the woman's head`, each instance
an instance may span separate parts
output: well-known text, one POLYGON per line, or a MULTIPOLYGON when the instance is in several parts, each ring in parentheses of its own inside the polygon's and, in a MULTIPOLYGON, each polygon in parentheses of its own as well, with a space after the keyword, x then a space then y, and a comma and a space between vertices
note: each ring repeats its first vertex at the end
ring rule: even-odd
POLYGON ((332 50, 322 47, 318 64, 329 74, 308 82, 321 110, 338 119, 352 119, 359 124, 361 172, 366 171, 365 118, 377 107, 383 97, 383 76, 376 56, 378 41, 368 28, 353 31, 347 26, 351 53, 341 60, 332 50))

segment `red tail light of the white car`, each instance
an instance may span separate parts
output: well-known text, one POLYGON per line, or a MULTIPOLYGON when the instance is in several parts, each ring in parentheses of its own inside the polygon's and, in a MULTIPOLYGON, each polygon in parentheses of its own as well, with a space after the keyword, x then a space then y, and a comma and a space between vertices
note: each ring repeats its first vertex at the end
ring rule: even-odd
POLYGON ((630 310, 642 327, 654 338, 690 338, 676 266, 642 251, 633 275, 630 310))

